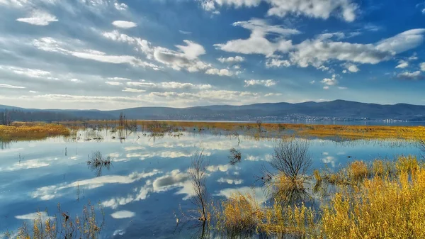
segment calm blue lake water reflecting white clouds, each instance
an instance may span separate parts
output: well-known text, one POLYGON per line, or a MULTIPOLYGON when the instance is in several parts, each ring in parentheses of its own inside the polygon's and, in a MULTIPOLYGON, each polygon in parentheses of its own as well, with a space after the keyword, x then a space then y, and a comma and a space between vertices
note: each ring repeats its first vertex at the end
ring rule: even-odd
MULTIPOLYGON (((101 202, 105 209, 106 227, 101 238, 188 238, 189 230, 174 233, 174 212, 195 209, 188 200, 193 189, 187 170, 198 150, 203 150, 209 161, 206 184, 214 199, 254 190, 260 201, 266 201, 254 176, 272 157, 273 139, 241 135, 238 143, 237 138, 225 135, 183 132, 180 138, 132 133, 119 140, 118 133, 103 130, 91 132, 103 140, 86 141, 87 133, 79 134, 79 140, 49 138, 2 145, 0 233, 16 232, 38 210, 55 213, 58 203, 70 215, 81 213, 90 200, 92 204, 101 202), (229 165, 230 148, 242 152, 237 165, 229 165), (113 159, 113 167, 103 169, 99 177, 86 163, 95 151, 113 159)), ((312 139, 310 154, 314 168, 327 165, 336 169, 355 159, 392 159, 395 155, 419 155, 419 150, 406 142, 312 139)))

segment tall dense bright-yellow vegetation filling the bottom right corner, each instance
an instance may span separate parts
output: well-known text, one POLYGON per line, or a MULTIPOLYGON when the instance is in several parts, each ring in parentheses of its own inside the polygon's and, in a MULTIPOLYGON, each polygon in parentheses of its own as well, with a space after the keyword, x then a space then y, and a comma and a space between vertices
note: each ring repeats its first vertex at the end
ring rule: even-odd
POLYGON ((395 165, 395 177, 365 179, 334 195, 322 214, 326 238, 425 238, 425 169, 414 157, 395 165))

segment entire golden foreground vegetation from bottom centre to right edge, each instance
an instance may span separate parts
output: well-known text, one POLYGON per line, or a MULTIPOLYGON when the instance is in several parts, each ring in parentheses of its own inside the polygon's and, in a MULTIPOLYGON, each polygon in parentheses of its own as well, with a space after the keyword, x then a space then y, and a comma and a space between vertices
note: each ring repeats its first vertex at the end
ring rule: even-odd
POLYGON ((273 198, 267 206, 252 194, 233 194, 215 209, 215 228, 227 238, 425 238, 425 168, 415 157, 356 161, 341 172, 320 206, 273 198))

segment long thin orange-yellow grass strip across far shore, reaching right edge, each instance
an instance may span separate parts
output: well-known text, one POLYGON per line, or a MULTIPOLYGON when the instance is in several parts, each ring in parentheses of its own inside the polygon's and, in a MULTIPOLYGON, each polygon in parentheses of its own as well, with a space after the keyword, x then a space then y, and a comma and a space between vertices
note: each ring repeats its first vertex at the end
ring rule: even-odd
MULTIPOLYGON (((83 122, 60 122, 65 126, 78 126, 83 122)), ((86 121, 89 125, 111 126, 118 121, 86 121)), ((184 130, 251 130, 251 133, 259 133, 257 123, 237 122, 201 122, 201 121, 137 121, 137 124, 145 128, 164 125, 181 128, 184 130)), ((164 127, 162 126, 162 127, 164 127)), ((304 137, 331 138, 337 137, 342 140, 354 139, 401 139, 418 140, 425 138, 424 126, 342 126, 342 125, 309 125, 293 123, 262 123, 261 130, 266 133, 291 132, 304 137)))

